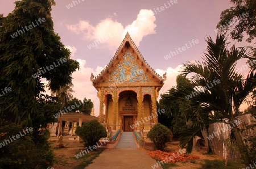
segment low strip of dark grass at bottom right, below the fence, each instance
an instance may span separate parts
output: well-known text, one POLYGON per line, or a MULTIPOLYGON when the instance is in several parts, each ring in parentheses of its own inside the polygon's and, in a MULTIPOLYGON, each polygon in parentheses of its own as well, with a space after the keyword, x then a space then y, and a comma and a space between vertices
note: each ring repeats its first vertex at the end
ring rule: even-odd
POLYGON ((243 164, 238 163, 234 160, 228 160, 228 166, 225 166, 225 160, 209 160, 205 159, 202 164, 202 168, 207 169, 234 169, 242 168, 243 164))

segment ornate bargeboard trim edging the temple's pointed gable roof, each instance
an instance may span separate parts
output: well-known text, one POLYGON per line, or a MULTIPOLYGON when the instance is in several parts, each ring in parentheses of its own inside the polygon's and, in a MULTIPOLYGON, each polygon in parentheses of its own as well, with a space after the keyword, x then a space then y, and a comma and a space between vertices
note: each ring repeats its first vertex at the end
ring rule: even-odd
POLYGON ((118 60, 120 59, 118 58, 119 54, 122 53, 123 49, 126 47, 126 44, 127 44, 126 42, 129 42, 130 47, 133 49, 133 52, 137 54, 137 60, 141 61, 142 66, 147 67, 147 71, 148 73, 152 74, 152 78, 155 78, 158 82, 161 82, 161 83, 166 81, 166 73, 164 73, 163 77, 161 77, 158 73, 155 72, 154 69, 152 69, 150 65, 147 64, 146 60, 143 58, 141 52, 139 52, 139 49, 135 45, 134 41, 131 39, 128 32, 126 33, 125 38, 123 39, 121 45, 119 45, 117 52, 115 52, 109 64, 101 71, 99 75, 97 75, 97 77, 94 77, 94 75, 91 74, 90 81, 92 81, 93 83, 98 83, 103 79, 105 74, 110 73, 109 70, 112 69, 115 62, 118 62, 118 60))

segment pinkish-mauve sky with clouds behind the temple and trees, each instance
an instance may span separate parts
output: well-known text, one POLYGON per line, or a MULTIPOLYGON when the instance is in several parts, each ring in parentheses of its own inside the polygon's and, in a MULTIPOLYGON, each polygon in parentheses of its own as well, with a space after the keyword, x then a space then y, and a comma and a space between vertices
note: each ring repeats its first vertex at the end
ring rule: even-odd
MULTIPOLYGON (((6 16, 13 11, 14 2, 0 1, 0 14, 6 16)), ((90 74, 93 73, 95 77, 100 74, 114 56, 126 32, 129 32, 142 56, 159 75, 167 72, 167 80, 160 90, 160 94, 163 94, 176 86, 176 76, 183 64, 201 61, 207 48, 205 39, 208 36, 215 39, 214 30, 220 21, 221 11, 233 5, 230 0, 55 2, 56 6, 52 7, 51 12, 55 32, 71 50, 71 58, 80 63, 80 70, 72 74, 73 96, 81 100, 91 99, 96 116, 99 113, 99 99, 90 74)), ((236 44, 236 47, 253 45, 233 40, 230 43, 236 44)), ((246 60, 238 62, 237 68, 246 74, 249 69, 245 63, 246 60)))

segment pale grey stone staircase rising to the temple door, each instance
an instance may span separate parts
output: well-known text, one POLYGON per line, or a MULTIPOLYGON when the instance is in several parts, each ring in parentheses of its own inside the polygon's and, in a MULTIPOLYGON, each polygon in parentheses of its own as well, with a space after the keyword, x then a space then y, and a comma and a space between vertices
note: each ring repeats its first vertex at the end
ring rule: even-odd
POLYGON ((133 132, 123 132, 115 149, 137 149, 134 142, 133 132))

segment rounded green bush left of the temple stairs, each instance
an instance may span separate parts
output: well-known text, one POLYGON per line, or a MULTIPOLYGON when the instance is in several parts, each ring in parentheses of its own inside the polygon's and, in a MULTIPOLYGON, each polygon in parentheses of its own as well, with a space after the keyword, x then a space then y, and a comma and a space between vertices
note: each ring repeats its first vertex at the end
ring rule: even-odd
POLYGON ((102 137, 106 137, 106 129, 97 120, 86 122, 76 129, 76 134, 84 140, 85 147, 96 145, 102 137))

